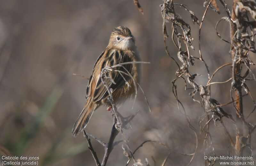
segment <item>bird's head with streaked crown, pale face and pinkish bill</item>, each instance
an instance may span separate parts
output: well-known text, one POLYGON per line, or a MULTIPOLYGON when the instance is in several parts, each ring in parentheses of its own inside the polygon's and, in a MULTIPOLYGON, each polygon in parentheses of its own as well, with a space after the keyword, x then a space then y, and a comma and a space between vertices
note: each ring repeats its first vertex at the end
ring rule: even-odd
POLYGON ((122 50, 131 50, 135 47, 135 39, 129 28, 117 26, 111 33, 108 46, 122 50))

